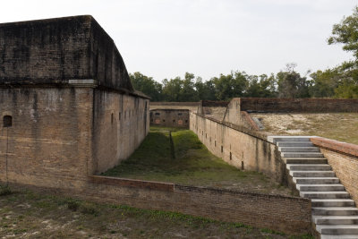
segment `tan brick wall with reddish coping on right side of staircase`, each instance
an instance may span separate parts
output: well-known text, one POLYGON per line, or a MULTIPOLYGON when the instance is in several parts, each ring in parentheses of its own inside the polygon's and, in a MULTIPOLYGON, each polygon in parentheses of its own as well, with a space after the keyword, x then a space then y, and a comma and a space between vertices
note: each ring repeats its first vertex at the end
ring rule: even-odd
POLYGON ((358 146, 325 138, 311 138, 314 145, 328 159, 337 177, 358 205, 358 146))

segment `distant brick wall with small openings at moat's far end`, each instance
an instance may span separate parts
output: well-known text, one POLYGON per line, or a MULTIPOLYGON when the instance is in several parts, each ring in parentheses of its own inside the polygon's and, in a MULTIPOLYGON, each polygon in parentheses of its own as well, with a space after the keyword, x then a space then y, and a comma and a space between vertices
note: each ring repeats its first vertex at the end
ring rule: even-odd
POLYGON ((189 128, 189 110, 151 109, 150 125, 189 128))

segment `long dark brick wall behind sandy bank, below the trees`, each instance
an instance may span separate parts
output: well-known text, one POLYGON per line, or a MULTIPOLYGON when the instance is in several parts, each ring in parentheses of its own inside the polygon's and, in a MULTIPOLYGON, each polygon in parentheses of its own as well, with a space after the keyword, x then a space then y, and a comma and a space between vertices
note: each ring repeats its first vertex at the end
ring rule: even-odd
POLYGON ((240 98, 240 110, 259 112, 358 112, 358 99, 240 98))

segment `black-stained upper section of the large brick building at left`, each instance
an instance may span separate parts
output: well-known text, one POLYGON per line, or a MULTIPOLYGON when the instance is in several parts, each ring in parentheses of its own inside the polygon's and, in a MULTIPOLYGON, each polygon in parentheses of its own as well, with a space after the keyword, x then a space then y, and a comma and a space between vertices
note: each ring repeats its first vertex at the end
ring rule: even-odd
POLYGON ((94 79, 132 90, 115 43, 91 16, 0 24, 0 80, 65 83, 94 79))

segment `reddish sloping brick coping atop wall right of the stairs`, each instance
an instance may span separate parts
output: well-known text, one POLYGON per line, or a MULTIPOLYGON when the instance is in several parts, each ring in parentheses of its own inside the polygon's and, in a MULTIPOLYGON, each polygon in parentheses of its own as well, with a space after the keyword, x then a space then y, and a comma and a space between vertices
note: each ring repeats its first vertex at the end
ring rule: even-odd
POLYGON ((356 144, 330 140, 322 137, 311 138, 311 142, 320 148, 337 151, 358 158, 358 145, 356 144))

